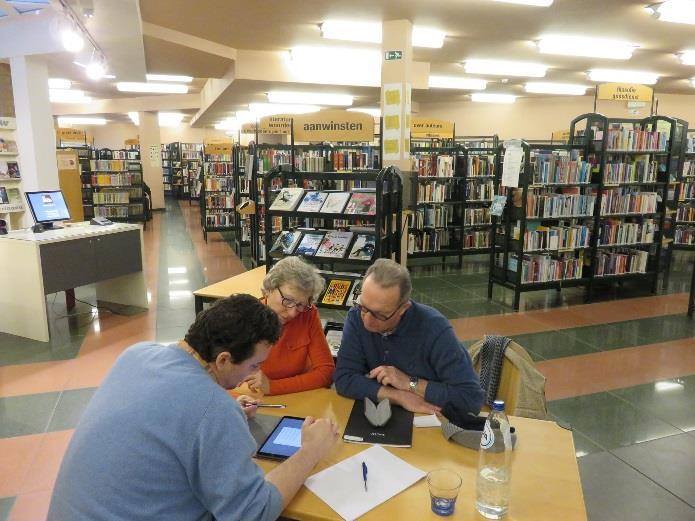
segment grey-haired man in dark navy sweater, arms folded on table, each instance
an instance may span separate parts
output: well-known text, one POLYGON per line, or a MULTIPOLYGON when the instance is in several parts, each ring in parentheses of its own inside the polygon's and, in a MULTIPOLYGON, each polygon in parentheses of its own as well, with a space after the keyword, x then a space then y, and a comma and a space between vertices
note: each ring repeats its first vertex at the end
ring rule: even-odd
POLYGON ((484 393, 468 353, 439 311, 410 300, 408 270, 389 259, 369 267, 345 321, 335 388, 349 398, 388 398, 455 423, 477 414, 484 393))

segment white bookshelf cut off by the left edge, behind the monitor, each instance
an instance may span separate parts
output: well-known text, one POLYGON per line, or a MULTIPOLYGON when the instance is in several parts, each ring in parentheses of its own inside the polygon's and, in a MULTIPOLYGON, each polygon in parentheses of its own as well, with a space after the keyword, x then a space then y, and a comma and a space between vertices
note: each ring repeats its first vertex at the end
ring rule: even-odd
POLYGON ((24 194, 19 150, 15 141, 15 118, 2 118, 8 125, 0 127, 0 219, 7 223, 7 231, 23 227, 24 194))

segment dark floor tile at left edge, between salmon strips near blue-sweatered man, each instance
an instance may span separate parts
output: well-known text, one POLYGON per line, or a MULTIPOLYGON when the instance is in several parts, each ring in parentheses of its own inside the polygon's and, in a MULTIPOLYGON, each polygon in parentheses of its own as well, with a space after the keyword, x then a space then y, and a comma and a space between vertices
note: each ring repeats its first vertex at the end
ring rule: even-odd
POLYGON ((46 431, 60 393, 0 398, 0 438, 46 431))

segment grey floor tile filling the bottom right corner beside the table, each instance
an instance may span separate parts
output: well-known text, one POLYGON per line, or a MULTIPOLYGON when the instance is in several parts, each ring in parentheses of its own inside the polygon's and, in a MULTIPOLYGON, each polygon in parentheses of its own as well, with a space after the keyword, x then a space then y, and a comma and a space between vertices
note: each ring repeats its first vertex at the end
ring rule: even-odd
POLYGON ((695 519, 695 509, 612 454, 589 454, 578 463, 591 521, 695 519))

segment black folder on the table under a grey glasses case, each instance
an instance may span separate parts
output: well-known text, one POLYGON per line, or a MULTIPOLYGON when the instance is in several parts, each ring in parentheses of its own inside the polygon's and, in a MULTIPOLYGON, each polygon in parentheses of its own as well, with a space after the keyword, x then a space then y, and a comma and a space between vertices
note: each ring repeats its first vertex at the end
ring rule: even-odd
POLYGON ((391 419, 386 425, 374 427, 364 415, 364 400, 355 400, 348 418, 343 440, 350 443, 373 443, 389 447, 412 447, 414 414, 391 404, 391 419))

